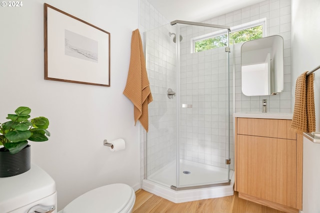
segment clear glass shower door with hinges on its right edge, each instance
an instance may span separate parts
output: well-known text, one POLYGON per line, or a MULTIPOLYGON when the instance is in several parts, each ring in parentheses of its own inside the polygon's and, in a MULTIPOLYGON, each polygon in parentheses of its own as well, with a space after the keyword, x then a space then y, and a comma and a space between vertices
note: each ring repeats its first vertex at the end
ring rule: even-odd
POLYGON ((229 183, 228 29, 186 23, 174 24, 180 38, 175 190, 229 183))

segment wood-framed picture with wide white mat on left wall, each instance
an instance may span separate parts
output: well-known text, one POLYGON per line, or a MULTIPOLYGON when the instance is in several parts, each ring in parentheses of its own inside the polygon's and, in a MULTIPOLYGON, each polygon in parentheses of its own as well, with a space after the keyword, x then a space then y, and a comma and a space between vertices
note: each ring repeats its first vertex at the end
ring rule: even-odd
POLYGON ((44 3, 44 79, 110 86, 110 33, 44 3))

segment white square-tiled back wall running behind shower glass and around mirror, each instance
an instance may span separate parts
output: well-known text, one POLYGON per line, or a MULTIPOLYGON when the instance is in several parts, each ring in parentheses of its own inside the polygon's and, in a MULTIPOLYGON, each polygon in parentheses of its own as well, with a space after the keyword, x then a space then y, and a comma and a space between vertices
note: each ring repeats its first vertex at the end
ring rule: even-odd
MULTIPOLYGON (((266 36, 281 35, 284 40, 284 88, 279 95, 251 97, 243 95, 241 92, 240 53, 242 43, 230 45, 231 168, 233 168, 234 162, 233 110, 235 112, 261 112, 261 101, 267 99, 268 112, 291 112, 290 0, 266 0, 204 21, 205 23, 232 27, 262 18, 266 20, 266 36), (233 61, 235 64, 234 76, 233 61), (235 86, 233 87, 233 85, 235 86), (232 109, 233 103, 234 109, 232 109)), ((202 32, 202 34, 205 33, 207 32, 202 32)), ((224 161, 227 159, 226 150, 228 150, 227 118, 224 116, 227 110, 227 87, 225 86, 227 71, 222 64, 224 58, 219 58, 221 55, 214 56, 216 54, 214 51, 221 52, 224 51, 224 48, 189 54, 190 39, 201 33, 196 30, 196 27, 189 26, 182 28, 180 34, 187 40, 181 42, 181 100, 187 103, 193 102, 193 106, 194 103, 196 104, 196 109, 182 109, 184 122, 182 121, 181 124, 182 131, 185 132, 181 133, 183 135, 181 157, 199 163, 224 167, 224 161), (183 83, 188 86, 184 86, 183 83), (199 93, 195 92, 194 87, 199 88, 197 91, 199 93)))

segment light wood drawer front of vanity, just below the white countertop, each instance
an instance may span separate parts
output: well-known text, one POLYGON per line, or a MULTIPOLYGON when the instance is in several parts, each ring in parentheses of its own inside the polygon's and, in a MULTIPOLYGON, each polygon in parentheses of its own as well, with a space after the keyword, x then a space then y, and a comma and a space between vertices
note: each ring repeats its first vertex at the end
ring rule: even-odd
POLYGON ((237 134, 296 140, 291 120, 237 118, 237 134))

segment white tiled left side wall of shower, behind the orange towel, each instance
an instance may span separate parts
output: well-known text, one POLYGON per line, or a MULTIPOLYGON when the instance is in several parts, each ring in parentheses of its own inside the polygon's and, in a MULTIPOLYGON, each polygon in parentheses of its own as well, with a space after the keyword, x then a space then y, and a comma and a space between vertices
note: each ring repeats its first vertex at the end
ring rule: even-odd
MULTIPOLYGON (((175 108, 175 102, 173 99, 167 99, 163 94, 166 94, 166 88, 171 86, 172 81, 175 81, 175 73, 172 64, 175 64, 175 49, 169 42, 168 31, 165 27, 159 27, 162 25, 169 26, 169 21, 163 17, 147 0, 139 0, 139 31, 142 40, 144 40, 143 32, 153 30, 153 35, 150 35, 153 40, 148 40, 148 53, 151 54, 146 57, 146 63, 150 69, 147 70, 148 78, 150 81, 150 89, 153 96, 153 101, 149 104, 149 132, 146 135, 143 127, 140 125, 140 180, 144 179, 144 169, 150 172, 154 172, 171 161, 175 157, 175 147, 172 147, 175 143, 175 132, 173 134, 172 128, 175 125, 175 113, 172 109, 175 108), (157 28, 159 27, 159 28, 157 28), (157 28, 157 29, 156 29, 157 28), (166 29, 166 30, 165 30, 166 29), (173 58, 174 55, 174 58, 173 58), (168 59, 168 62, 166 60, 168 59), (173 63, 174 62, 174 63, 173 63), (153 72, 153 71, 157 72, 153 72), (171 73, 169 72, 172 71, 171 73), (170 78, 167 79, 166 74, 169 74, 170 78), (168 80, 168 81, 167 81, 168 80), (171 83, 169 83, 171 82, 171 83), (164 109, 167 111, 164 112, 164 109), (162 116, 165 114, 165 116, 162 116), (154 122, 156 121, 156 122, 154 122), (159 122, 161 121, 161 122, 159 122), (166 130, 168 125, 168 130, 166 130), (144 144, 146 140, 152 140, 152 143, 148 143, 147 146, 150 151, 146 152, 144 144), (169 144, 170 143, 170 144, 169 144), (145 153, 148 159, 148 168, 144 168, 145 153), (164 156, 163 156, 164 155, 164 156)), ((144 46, 145 49, 145 46, 144 46)), ((174 88, 175 89, 175 86, 174 88)), ((175 129, 174 129, 175 130, 175 129)), ((175 145, 174 145, 175 146, 175 145)), ((150 173, 149 172, 149 173, 150 173)), ((145 174, 149 175, 149 174, 145 174)), ((141 182, 142 184, 142 182, 141 182)))

